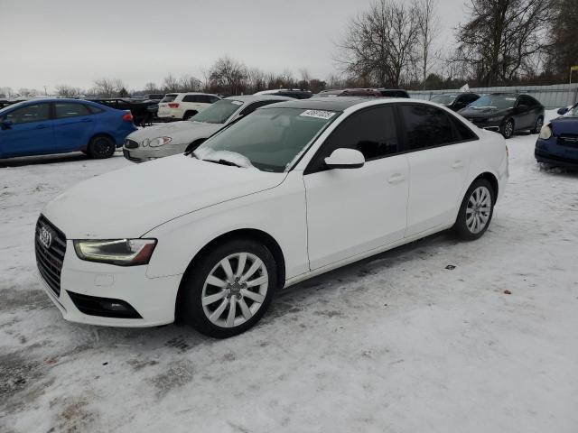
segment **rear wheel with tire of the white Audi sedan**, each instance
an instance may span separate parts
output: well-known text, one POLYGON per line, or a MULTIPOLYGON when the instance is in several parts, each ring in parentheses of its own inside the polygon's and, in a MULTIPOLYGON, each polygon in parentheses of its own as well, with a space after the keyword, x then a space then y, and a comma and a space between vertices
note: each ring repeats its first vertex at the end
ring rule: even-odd
POLYGON ((495 203, 496 193, 489 181, 474 180, 461 201, 460 212, 453 226, 456 235, 464 241, 479 239, 488 230, 495 203))

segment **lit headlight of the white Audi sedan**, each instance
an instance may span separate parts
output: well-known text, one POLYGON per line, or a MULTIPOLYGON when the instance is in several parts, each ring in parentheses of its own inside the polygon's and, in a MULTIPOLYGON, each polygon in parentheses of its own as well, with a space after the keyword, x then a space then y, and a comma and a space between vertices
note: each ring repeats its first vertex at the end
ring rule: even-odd
POLYGON ((155 246, 156 239, 74 241, 74 250, 79 259, 117 266, 147 264, 151 260, 155 246))

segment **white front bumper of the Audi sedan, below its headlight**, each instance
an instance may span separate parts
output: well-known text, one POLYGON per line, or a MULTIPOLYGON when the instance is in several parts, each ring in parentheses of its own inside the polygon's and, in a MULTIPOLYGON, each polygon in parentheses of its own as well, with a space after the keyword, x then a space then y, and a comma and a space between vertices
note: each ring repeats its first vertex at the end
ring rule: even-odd
POLYGON ((51 290, 39 274, 44 291, 61 310, 63 318, 105 327, 155 327, 174 321, 176 296, 182 275, 149 278, 146 276, 147 266, 121 267, 81 261, 74 253, 72 241, 67 241, 67 244, 61 270, 60 295, 51 290), (136 318, 85 314, 71 298, 74 294, 84 295, 85 298, 119 299, 138 314, 136 318))

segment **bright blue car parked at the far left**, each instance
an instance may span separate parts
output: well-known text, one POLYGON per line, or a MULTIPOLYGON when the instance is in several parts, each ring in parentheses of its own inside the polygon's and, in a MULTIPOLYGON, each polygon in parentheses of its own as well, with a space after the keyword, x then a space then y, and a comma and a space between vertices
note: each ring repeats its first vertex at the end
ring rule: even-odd
POLYGON ((135 130, 127 111, 79 99, 34 99, 0 110, 0 158, 77 151, 108 158, 135 130))

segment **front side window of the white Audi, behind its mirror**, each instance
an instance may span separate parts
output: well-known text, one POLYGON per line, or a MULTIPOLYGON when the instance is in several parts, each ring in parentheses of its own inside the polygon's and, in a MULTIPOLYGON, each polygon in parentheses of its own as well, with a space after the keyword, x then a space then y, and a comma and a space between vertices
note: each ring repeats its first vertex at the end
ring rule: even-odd
POLYGON ((377 106, 350 115, 323 143, 312 171, 325 169, 323 160, 339 148, 363 153, 366 161, 377 160, 399 152, 396 117, 392 106, 377 106))

